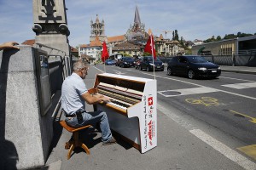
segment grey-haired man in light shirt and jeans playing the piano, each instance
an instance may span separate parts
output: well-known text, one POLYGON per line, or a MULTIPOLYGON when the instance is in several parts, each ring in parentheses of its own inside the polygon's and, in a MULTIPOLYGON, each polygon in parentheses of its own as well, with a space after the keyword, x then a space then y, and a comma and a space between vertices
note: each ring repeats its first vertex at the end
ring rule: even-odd
POLYGON ((108 97, 101 94, 91 95, 85 86, 84 78, 87 75, 89 65, 79 59, 73 64, 73 74, 65 79, 61 88, 61 107, 66 116, 66 122, 71 127, 82 127, 90 124, 100 127, 102 144, 114 144, 108 124, 108 116, 104 111, 86 112, 86 101, 90 105, 99 102, 109 102, 108 97))

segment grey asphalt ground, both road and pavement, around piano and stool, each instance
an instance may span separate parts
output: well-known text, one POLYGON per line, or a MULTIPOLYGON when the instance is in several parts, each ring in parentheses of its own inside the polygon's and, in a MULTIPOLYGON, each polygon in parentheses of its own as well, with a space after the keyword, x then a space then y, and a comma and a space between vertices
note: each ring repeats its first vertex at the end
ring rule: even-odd
MULTIPOLYGON (((134 68, 91 65, 85 79, 93 87, 97 73, 154 78, 134 68)), ((158 145, 141 154, 123 141, 102 146, 92 128, 81 134, 91 155, 77 150, 67 160, 70 133, 56 122, 57 133, 45 169, 256 169, 255 75, 225 73, 218 79, 189 80, 155 72, 158 91, 158 145), (242 83, 242 84, 237 84, 242 83), (246 83, 246 84, 245 84, 246 83), (253 122, 254 121, 254 122, 253 122), (255 147, 254 147, 255 148, 255 147)), ((91 106, 86 105, 90 111, 91 106)), ((63 119, 63 116, 60 117, 63 119)))

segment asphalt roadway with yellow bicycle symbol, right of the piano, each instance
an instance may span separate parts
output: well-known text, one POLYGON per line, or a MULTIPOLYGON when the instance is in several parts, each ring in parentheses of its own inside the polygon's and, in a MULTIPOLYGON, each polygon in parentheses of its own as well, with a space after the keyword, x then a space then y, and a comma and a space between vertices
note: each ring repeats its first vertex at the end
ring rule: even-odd
MULTIPOLYGON (((97 65, 96 68, 125 76, 154 78, 153 72, 133 67, 97 65)), ((217 79, 190 80, 156 71, 155 78, 159 111, 172 111, 167 116, 223 155, 238 153, 256 162, 256 75, 222 72, 217 79), (224 149, 220 150, 221 147, 224 149)))

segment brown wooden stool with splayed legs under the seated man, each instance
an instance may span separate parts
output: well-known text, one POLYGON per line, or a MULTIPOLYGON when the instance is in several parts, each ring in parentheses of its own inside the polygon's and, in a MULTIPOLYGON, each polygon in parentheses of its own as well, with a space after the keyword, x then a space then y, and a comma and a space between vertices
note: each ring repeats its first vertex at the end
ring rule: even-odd
POLYGON ((67 152, 67 160, 70 159, 71 152, 73 151, 73 149, 75 147, 83 148, 84 151, 86 152, 86 154, 90 155, 90 150, 88 149, 88 147, 79 140, 79 130, 82 130, 84 128, 88 128, 88 127, 90 127, 90 125, 75 128, 75 127, 68 126, 65 121, 61 121, 60 124, 61 124, 62 127, 66 128, 66 130, 68 132, 73 133, 73 140, 70 142, 71 147, 69 148, 69 150, 67 152))

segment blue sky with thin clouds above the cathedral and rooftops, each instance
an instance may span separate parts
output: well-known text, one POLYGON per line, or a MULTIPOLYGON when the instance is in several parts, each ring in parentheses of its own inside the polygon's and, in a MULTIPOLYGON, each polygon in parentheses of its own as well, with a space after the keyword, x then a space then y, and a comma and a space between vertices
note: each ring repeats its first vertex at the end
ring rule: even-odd
MULTIPOLYGON (((33 0, 34 1, 34 0, 33 0)), ((186 41, 225 34, 256 33, 255 0, 66 0, 69 44, 90 43, 90 20, 105 22, 105 36, 124 35, 133 25, 136 6, 145 30, 186 41), (167 32, 167 33, 165 33, 167 32)), ((0 0, 0 43, 34 39, 31 0, 0 0)))

